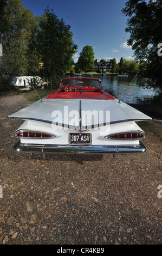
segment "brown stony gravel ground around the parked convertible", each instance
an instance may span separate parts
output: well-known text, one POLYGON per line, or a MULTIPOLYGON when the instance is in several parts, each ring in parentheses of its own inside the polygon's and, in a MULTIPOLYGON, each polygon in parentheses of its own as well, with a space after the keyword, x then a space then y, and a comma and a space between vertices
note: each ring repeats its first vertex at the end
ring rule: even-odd
POLYGON ((7 116, 30 103, 0 97, 0 244, 161 244, 161 120, 144 154, 43 160, 13 150, 22 120, 7 116))

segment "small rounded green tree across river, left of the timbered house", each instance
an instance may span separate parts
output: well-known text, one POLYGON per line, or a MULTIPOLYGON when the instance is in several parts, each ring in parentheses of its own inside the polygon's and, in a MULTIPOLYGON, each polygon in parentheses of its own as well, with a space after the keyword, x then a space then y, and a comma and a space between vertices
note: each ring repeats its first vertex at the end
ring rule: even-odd
POLYGON ((94 51, 92 46, 86 45, 83 47, 77 65, 85 72, 94 70, 94 51))

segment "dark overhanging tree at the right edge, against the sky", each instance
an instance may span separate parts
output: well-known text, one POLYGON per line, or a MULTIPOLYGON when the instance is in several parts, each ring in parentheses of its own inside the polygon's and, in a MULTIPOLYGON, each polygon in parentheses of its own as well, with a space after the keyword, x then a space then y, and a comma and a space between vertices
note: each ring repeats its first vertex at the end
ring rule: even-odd
POLYGON ((162 38, 162 1, 129 0, 122 12, 128 16, 127 44, 132 45, 138 60, 146 61, 151 86, 162 87, 162 58, 157 54, 162 38))

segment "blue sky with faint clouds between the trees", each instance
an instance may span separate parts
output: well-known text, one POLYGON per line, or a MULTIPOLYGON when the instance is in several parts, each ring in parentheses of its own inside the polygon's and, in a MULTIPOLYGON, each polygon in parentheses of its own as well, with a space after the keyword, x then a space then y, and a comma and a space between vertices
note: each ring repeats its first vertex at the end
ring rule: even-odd
POLYGON ((22 0, 33 14, 41 15, 44 9, 54 9, 73 32, 74 44, 78 46, 77 61, 85 45, 93 47, 95 59, 134 59, 131 47, 126 44, 129 34, 125 32, 127 17, 121 13, 126 0, 22 0))

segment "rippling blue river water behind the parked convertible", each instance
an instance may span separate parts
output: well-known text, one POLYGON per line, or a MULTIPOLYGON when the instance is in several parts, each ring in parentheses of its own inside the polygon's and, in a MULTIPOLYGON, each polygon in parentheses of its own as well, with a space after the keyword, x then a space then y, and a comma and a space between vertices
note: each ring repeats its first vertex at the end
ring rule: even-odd
POLYGON ((125 103, 150 103, 151 99, 159 93, 158 89, 147 89, 140 86, 144 78, 95 75, 92 77, 99 78, 103 90, 125 103))

